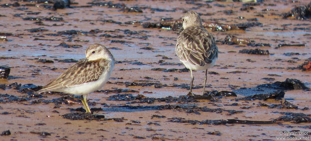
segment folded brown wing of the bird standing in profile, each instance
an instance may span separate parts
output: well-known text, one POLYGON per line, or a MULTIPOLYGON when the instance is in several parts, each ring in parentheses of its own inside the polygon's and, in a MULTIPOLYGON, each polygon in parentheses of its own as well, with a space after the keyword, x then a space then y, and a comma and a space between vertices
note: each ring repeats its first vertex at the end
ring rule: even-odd
POLYGON ((78 61, 68 68, 56 80, 44 86, 38 92, 53 91, 68 87, 77 86, 98 80, 102 72, 106 69, 101 67, 106 61, 104 59, 88 61, 86 59, 78 61))

